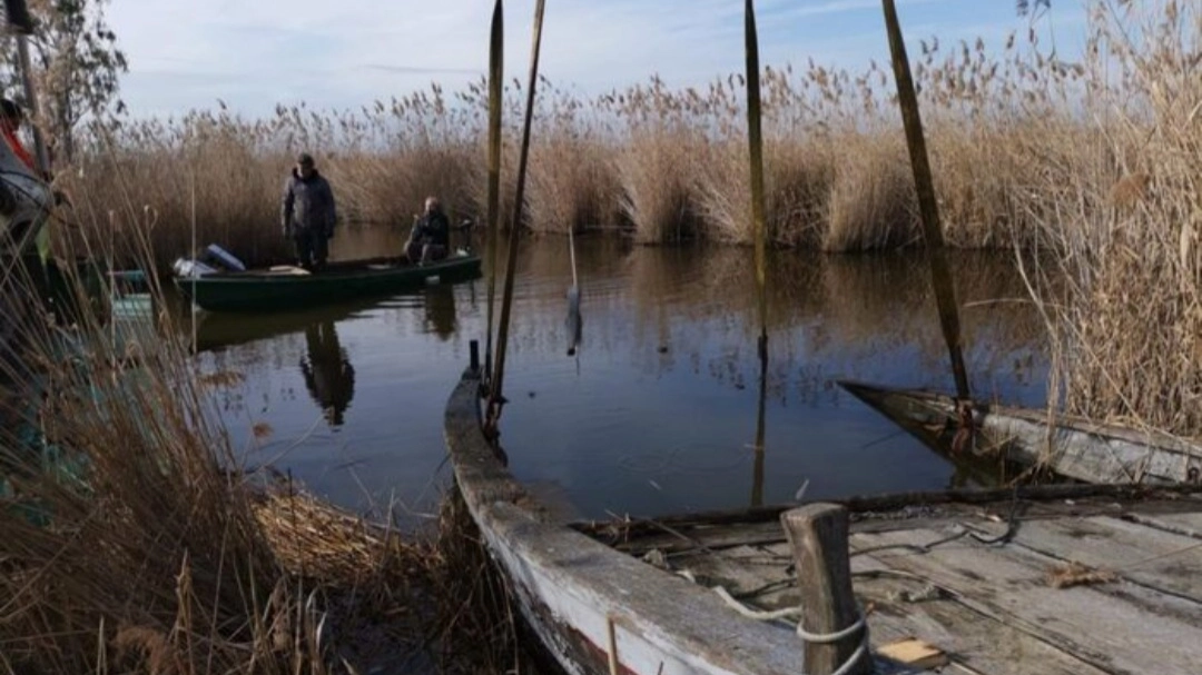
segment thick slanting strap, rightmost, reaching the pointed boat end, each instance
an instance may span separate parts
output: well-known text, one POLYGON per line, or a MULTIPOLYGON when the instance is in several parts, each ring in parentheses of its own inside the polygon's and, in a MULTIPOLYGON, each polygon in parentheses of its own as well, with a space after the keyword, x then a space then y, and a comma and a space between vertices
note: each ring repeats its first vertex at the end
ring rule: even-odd
POLYGON ((930 177, 927 142, 922 135, 918 96, 915 94, 914 78, 910 76, 910 61, 906 56, 905 42, 902 38, 897 7, 893 0, 882 1, 886 32, 889 36, 889 52, 893 56, 893 74, 898 85, 898 104, 902 107, 906 145, 910 149, 910 166, 914 168, 914 183, 918 193, 923 238, 930 257, 930 276, 935 287, 935 301, 939 305, 939 323, 942 327, 944 341, 947 344, 947 352, 952 360, 956 396, 960 401, 969 401, 971 394, 960 346, 960 319, 957 311, 956 287, 952 283, 952 273, 947 267, 947 255, 944 249, 944 231, 939 222, 939 204, 935 202, 935 185, 930 177))

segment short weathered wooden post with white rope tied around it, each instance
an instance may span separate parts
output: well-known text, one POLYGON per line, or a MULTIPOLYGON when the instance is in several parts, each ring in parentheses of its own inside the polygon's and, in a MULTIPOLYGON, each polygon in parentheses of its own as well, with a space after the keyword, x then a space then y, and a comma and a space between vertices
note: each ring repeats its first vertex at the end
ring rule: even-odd
MULTIPOLYGON (((780 514, 797 566, 802 596, 802 628, 807 633, 832 634, 859 621, 856 596, 851 591, 851 561, 847 556, 847 509, 839 504, 814 503, 780 514)), ((859 649, 864 629, 834 643, 805 643, 809 675, 831 675, 859 649)), ((846 671, 869 675, 873 659, 864 655, 846 671)))

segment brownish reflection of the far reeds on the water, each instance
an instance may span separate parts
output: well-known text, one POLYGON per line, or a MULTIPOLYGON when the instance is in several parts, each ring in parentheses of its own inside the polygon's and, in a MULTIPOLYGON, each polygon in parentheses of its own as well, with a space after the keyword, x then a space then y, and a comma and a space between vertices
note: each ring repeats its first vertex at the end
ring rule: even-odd
MULTIPOLYGON (((545 238, 523 246, 510 335, 514 353, 561 357, 571 285, 566 245, 545 238)), ((750 249, 582 238, 577 252, 589 352, 631 358, 645 372, 684 368, 752 386, 758 372, 750 249)), ((1002 369, 1012 371, 1016 359, 1042 360, 1043 328, 1006 256, 958 252, 952 273, 970 374, 988 382, 1002 369)), ((912 370, 948 371, 930 273, 920 253, 773 251, 767 301, 773 399, 825 395, 832 376, 871 375, 903 353, 912 370)))

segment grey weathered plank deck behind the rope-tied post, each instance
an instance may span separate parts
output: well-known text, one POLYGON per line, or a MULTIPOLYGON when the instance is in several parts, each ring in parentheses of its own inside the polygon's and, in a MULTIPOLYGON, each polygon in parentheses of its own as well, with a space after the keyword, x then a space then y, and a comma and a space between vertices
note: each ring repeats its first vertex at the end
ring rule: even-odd
MULTIPOLYGON (((941 673, 1202 673, 1202 488, 1096 490, 850 503, 873 651, 941 673)), ((576 527, 768 611, 799 604, 781 513, 576 527)))

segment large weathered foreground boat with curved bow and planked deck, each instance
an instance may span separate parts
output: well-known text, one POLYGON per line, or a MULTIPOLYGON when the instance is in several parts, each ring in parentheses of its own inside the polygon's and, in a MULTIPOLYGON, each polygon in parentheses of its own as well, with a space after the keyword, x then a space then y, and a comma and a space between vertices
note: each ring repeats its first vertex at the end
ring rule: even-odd
POLYGON ((567 673, 1117 675, 1155 664, 1185 675, 1202 658, 1197 485, 948 490, 566 522, 481 432, 475 365, 445 423, 481 538, 567 673), (814 537, 791 526, 807 518, 823 522, 814 537), (840 565, 846 578, 835 579, 840 565), (809 632, 847 617, 840 585, 855 619, 825 632, 849 631, 803 641, 798 616, 809 632))

